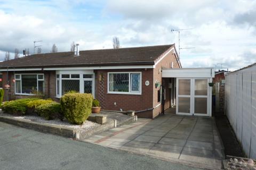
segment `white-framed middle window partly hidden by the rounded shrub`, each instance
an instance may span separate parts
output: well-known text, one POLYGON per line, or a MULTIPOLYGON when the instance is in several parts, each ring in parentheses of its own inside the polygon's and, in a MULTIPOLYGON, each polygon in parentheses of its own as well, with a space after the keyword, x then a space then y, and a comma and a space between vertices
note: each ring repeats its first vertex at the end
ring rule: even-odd
POLYGON ((94 96, 94 73, 86 71, 57 72, 56 97, 60 98, 70 90, 94 96))

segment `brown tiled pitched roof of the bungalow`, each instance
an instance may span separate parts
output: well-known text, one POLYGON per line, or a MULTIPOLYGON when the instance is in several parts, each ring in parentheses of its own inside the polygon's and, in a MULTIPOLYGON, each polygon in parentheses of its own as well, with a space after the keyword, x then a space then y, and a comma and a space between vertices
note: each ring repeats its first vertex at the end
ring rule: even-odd
POLYGON ((172 45, 81 50, 74 52, 35 54, 0 62, 0 68, 70 67, 70 66, 114 66, 154 65, 158 58, 174 47, 172 45))

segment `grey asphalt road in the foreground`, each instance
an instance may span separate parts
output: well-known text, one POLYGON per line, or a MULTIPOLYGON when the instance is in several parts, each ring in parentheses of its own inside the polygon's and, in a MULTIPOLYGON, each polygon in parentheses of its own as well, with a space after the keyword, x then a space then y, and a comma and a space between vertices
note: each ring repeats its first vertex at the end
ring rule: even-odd
POLYGON ((197 169, 0 122, 0 169, 197 169))

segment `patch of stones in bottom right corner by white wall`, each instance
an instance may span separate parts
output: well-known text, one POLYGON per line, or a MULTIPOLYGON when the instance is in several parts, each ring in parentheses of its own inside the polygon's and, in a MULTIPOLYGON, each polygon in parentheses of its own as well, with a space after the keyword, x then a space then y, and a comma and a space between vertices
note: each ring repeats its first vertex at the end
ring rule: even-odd
POLYGON ((249 160, 244 160, 242 158, 240 159, 232 159, 230 158, 228 160, 228 167, 226 168, 226 170, 228 169, 234 169, 234 170, 256 170, 256 165, 254 163, 254 161, 252 159, 249 160))

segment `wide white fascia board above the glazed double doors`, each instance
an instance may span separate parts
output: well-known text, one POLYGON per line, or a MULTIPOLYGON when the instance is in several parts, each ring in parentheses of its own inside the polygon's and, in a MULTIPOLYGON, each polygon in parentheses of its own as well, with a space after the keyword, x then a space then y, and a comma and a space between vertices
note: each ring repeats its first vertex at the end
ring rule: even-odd
POLYGON ((163 69, 163 78, 214 78, 212 68, 163 69))

